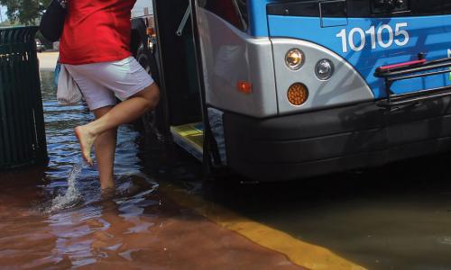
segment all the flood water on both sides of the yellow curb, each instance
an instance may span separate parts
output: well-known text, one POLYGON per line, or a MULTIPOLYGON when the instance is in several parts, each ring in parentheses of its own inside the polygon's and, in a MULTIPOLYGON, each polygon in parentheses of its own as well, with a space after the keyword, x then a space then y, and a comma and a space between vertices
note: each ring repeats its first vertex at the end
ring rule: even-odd
POLYGON ((293 183, 231 174, 202 186, 197 161, 128 125, 117 192, 102 197, 72 131, 92 116, 83 104, 57 104, 51 72, 41 79, 51 160, 0 173, 0 268, 302 268, 180 206, 177 189, 368 269, 451 269, 449 154, 293 183))

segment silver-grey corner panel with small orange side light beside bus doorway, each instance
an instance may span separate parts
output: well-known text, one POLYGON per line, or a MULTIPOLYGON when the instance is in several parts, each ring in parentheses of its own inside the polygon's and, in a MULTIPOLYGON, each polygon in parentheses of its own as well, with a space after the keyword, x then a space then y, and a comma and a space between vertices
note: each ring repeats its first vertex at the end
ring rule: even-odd
POLYGON ((268 38, 254 39, 204 8, 198 8, 207 103, 253 117, 277 115, 278 105, 268 38), (252 84, 252 92, 237 89, 252 84))

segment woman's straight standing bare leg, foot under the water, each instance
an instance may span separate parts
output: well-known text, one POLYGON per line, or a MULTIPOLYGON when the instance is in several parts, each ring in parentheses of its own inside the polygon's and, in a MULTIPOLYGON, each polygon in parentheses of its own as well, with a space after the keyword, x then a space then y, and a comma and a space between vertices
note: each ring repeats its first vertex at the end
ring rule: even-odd
MULTIPOLYGON (((113 106, 100 108, 94 111, 96 118, 99 119, 107 112, 111 111, 113 106)), ((98 173, 100 175, 100 186, 103 191, 115 189, 114 165, 115 165, 115 145, 117 138, 117 128, 106 130, 98 136, 94 146, 96 148, 98 173)))

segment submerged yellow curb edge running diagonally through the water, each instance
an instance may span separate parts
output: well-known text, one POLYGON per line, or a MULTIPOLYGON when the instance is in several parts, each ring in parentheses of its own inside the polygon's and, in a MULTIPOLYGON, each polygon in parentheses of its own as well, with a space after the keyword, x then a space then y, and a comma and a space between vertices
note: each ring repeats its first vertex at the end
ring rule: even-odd
POLYGON ((160 190, 169 195, 179 205, 196 211, 217 225, 235 231, 262 247, 285 255, 297 266, 311 270, 365 269, 363 266, 358 266, 343 257, 339 257, 325 247, 301 241, 281 230, 272 229, 269 226, 249 220, 234 211, 230 211, 214 202, 207 202, 198 195, 189 194, 174 185, 161 184, 160 190))

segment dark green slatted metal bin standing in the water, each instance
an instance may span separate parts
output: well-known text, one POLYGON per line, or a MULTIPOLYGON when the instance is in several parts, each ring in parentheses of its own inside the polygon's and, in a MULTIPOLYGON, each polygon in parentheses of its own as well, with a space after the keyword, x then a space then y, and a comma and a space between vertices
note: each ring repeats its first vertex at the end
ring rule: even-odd
POLYGON ((0 169, 48 160, 37 31, 37 27, 0 28, 0 169))

